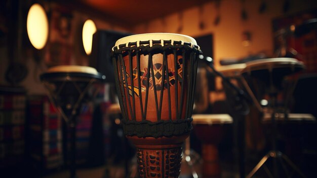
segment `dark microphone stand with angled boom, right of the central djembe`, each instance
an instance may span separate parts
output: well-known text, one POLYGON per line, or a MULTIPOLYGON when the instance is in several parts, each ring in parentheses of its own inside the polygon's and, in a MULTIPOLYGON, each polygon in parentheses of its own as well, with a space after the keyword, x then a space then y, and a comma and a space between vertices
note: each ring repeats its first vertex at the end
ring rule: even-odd
MULTIPOLYGON (((211 59, 211 58, 210 58, 211 59)), ((218 72, 215 67, 214 63, 211 60, 207 60, 205 58, 205 62, 207 63, 208 67, 212 69, 212 71, 219 76, 223 84, 226 84, 234 93, 234 111, 232 113, 232 117, 234 118, 234 132, 235 132, 235 144, 237 146, 237 160, 239 164, 239 173, 240 177, 245 177, 245 116, 249 114, 249 106, 247 102, 252 103, 252 100, 246 95, 244 90, 237 87, 236 85, 232 84, 228 77, 225 77, 222 73, 218 72), (245 111, 243 111, 243 109, 245 111)), ((232 93, 232 92, 230 92, 232 93)))

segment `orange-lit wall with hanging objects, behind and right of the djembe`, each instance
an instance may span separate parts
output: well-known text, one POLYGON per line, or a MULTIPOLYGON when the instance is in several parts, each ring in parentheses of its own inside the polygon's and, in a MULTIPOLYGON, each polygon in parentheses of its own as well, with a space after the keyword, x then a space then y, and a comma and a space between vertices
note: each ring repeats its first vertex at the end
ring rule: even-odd
MULTIPOLYGON (((273 53, 273 33, 271 21, 273 18, 317 8, 317 1, 313 0, 291 0, 288 13, 283 13, 282 0, 265 1, 267 10, 263 14, 258 13, 262 0, 246 0, 245 9, 249 19, 241 20, 241 1, 222 0, 220 4, 220 23, 213 24, 216 17, 215 2, 210 2, 200 7, 193 7, 183 11, 183 30, 182 34, 197 37, 206 33, 214 34, 214 59, 219 65, 222 58, 245 57, 261 51, 268 55, 273 53), (202 15, 199 13, 202 10, 202 15), (205 29, 199 27, 200 17, 205 22, 205 29), (252 44, 248 47, 242 45, 243 31, 252 33, 252 44)), ((172 32, 178 33, 177 28, 179 13, 155 19, 151 22, 139 24, 134 28, 135 33, 144 32, 172 32)))

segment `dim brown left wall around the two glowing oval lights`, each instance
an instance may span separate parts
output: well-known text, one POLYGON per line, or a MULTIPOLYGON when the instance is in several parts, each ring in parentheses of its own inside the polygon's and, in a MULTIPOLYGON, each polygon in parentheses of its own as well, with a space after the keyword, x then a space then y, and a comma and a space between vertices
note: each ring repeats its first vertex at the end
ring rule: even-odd
MULTIPOLYGON (((110 23, 103 21, 102 19, 92 18, 88 14, 84 14, 81 12, 78 12, 76 10, 70 11, 71 13, 71 35, 67 40, 61 40, 61 38, 58 37, 59 34, 57 34, 56 31, 52 30, 54 28, 52 25, 52 9, 56 7, 57 5, 54 3, 47 3, 45 4, 46 10, 50 9, 51 19, 49 19, 50 23, 50 33, 49 33, 49 40, 45 46, 45 48, 41 51, 36 51, 33 49, 33 47, 23 47, 23 64, 26 65, 28 69, 28 74, 26 78, 20 83, 21 86, 25 87, 28 94, 44 94, 47 91, 45 90, 44 86, 42 85, 41 81, 39 80, 39 76, 44 73, 48 66, 50 64, 58 64, 54 63, 55 61, 50 61, 50 48, 52 48, 52 43, 59 41, 62 45, 66 44, 69 48, 69 64, 71 65, 88 65, 89 64, 89 58, 85 54, 85 51, 83 49, 82 45, 82 27, 87 19, 94 20, 97 29, 112 29, 117 31, 126 31, 125 29, 111 25, 110 23), (34 60, 35 55, 39 55, 40 60, 39 62, 36 62, 34 60)), ((25 28, 26 29, 26 28, 25 28)), ((25 32, 26 35, 26 32, 25 32)), ((24 38, 25 40, 28 40, 27 37, 24 38)), ((25 44, 25 42, 23 42, 25 44)), ((62 47, 63 48, 63 47, 62 47)), ((58 51, 59 53, 64 52, 63 49, 61 51, 58 51)), ((59 61, 62 61, 61 59, 58 59, 59 61)), ((9 59, 8 59, 8 52, 6 46, 0 46, 0 85, 9 85, 9 83, 5 80, 5 72, 8 67, 9 59)))

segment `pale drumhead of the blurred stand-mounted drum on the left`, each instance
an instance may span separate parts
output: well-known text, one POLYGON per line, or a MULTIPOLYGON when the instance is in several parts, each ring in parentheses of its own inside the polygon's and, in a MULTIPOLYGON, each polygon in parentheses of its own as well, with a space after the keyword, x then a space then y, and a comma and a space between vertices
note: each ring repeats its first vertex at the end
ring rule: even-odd
POLYGON ((86 73, 92 75, 98 75, 95 68, 81 65, 58 65, 50 67, 47 73, 86 73))

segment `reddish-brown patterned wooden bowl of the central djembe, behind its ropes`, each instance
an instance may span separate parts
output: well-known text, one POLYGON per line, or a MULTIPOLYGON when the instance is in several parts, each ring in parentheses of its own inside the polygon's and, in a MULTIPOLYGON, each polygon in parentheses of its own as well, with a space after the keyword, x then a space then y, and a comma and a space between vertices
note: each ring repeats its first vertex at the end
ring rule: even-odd
MULTIPOLYGON (((142 108, 143 112, 145 109, 145 103, 146 103, 146 90, 148 89, 148 98, 147 98, 147 109, 146 109, 146 115, 145 119, 147 121, 156 122, 158 120, 177 120, 177 119, 185 119, 186 117, 186 111, 190 110, 190 113, 192 111, 192 105, 188 108, 186 107, 186 103, 188 102, 187 99, 187 92, 188 92, 188 80, 190 80, 190 67, 193 67, 190 65, 189 60, 183 60, 183 56, 181 53, 176 54, 177 62, 175 66, 175 56, 173 53, 167 54, 167 66, 168 66, 168 75, 169 75, 169 81, 167 81, 167 76, 165 76, 165 82, 162 86, 162 69, 163 69, 163 60, 164 56, 163 54, 154 54, 152 55, 152 64, 153 64, 153 72, 154 72, 154 80, 155 80, 155 89, 156 93, 154 91, 154 85, 153 85, 153 77, 150 67, 148 67, 149 63, 149 55, 140 55, 140 63, 139 63, 139 69, 141 77, 138 78, 136 73, 138 71, 137 66, 137 56, 131 54, 132 61, 130 60, 130 56, 124 56, 123 61, 121 63, 117 62, 117 70, 121 71, 118 72, 118 78, 121 80, 119 82, 120 92, 123 96, 123 102, 127 103, 127 107, 125 108, 125 113, 127 114, 127 120, 135 120, 135 121, 142 121, 142 108), (183 62, 186 64, 183 65, 183 62), (125 79, 124 72, 123 72, 123 66, 125 65, 125 72, 127 73, 127 79, 125 79), (132 64, 132 67, 130 66, 132 64), (186 66, 186 67, 183 67, 186 66), (131 71, 132 69, 132 71, 131 71), (150 73, 149 76, 149 87, 147 88, 147 73, 150 73), (185 73, 184 75, 182 73, 185 73), (132 74, 132 75, 131 75, 132 74), (143 74, 143 75, 142 75, 143 74), (176 76, 178 76, 178 82, 176 83, 176 76), (182 78, 184 76, 184 78, 182 78), (131 77, 133 77, 133 80, 131 81, 131 77), (140 95, 138 96, 139 92, 138 90, 131 91, 135 92, 134 96, 134 102, 131 93, 127 92, 125 81, 128 83, 128 87, 132 88, 138 88, 140 90, 141 88, 141 101, 140 101, 140 95), (140 82, 141 87, 139 86, 138 82, 140 82), (169 83, 167 83, 169 82, 169 83), (181 84, 182 83, 182 84, 181 84), (168 95, 168 89, 167 84, 169 84, 170 88, 170 96, 168 95), (176 86, 177 85, 177 86, 176 86), (182 86, 183 85, 183 86, 182 86), (124 90, 122 90, 124 89, 124 90), (161 92, 163 89, 163 99, 162 99, 162 110, 160 110, 160 97, 161 92), (183 90, 183 91, 182 91, 183 90), (159 106, 159 110, 157 110, 155 105, 155 94, 157 97, 157 104, 159 106), (177 97, 176 97, 177 95, 177 97), (124 99, 125 98, 125 99, 124 99), (181 101, 182 100, 182 101, 181 101), (169 105, 170 102, 170 105, 169 105), (131 108, 130 108, 130 104, 131 108), (135 107, 135 113, 134 113, 134 107, 135 107), (178 110, 176 109, 178 107, 178 110), (170 111, 169 111, 170 110, 170 111), (170 113, 171 112, 171 115, 170 113), (178 114, 177 114, 178 112, 178 114), (157 117, 157 114, 160 113, 160 118, 157 117), (135 116, 133 116, 135 115, 135 116)), ((185 59, 189 59, 189 53, 185 53, 185 59)), ((190 105, 190 104, 189 104, 190 105)), ((191 115, 191 114, 190 114, 191 115)), ((190 116, 189 116, 190 117, 190 116)))

